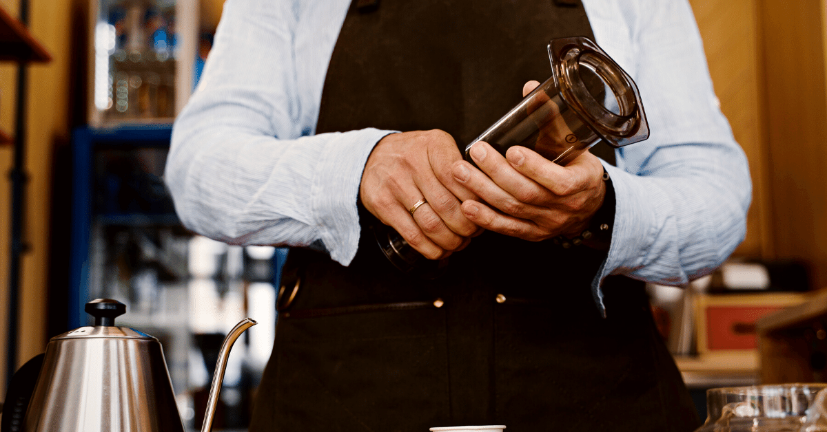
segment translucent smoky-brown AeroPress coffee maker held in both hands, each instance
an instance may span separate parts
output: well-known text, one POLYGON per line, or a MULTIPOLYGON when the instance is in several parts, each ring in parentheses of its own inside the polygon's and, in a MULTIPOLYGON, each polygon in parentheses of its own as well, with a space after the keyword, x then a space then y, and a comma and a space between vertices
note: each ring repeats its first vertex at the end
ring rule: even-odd
MULTIPOLYGON (((643 102, 629 74, 586 37, 554 39, 548 44, 552 77, 466 145, 464 159, 478 141, 500 154, 514 145, 566 165, 600 140, 614 148, 649 136, 643 102)), ((404 273, 435 278, 448 259, 426 259, 396 230, 373 227, 385 256, 404 273)), ((450 258, 450 257, 449 257, 450 258)))

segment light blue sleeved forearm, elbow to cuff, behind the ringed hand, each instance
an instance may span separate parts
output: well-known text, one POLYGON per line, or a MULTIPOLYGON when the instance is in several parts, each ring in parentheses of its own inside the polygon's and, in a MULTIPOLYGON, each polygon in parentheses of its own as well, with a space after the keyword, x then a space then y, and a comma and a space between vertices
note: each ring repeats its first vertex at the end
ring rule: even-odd
POLYGON ((165 180, 184 225, 231 244, 321 240, 332 259, 349 263, 361 170, 387 132, 278 140, 234 110, 196 101, 176 122, 165 180))

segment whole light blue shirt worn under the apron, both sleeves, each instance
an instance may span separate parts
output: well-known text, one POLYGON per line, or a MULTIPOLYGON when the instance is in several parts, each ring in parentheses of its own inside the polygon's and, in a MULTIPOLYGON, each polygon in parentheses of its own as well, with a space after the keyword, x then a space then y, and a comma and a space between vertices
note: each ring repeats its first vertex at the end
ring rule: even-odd
MULTIPOLYGON (((165 180, 184 225, 231 244, 323 247, 351 262, 362 169, 390 131, 313 135, 349 3, 227 0, 173 130, 165 180)), ((595 298, 609 274, 686 284, 743 240, 747 159, 719 110, 686 0, 583 3, 598 45, 638 84, 651 130, 606 166, 617 204, 595 298)))

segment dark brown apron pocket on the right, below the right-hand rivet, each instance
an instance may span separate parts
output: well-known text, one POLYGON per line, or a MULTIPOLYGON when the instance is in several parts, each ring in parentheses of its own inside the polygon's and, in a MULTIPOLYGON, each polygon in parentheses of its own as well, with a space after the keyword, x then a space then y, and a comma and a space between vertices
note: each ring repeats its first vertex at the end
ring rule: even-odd
POLYGON ((653 341, 643 320, 589 323, 537 303, 502 304, 495 315, 495 405, 502 424, 635 430, 642 425, 635 419, 660 410, 653 341))

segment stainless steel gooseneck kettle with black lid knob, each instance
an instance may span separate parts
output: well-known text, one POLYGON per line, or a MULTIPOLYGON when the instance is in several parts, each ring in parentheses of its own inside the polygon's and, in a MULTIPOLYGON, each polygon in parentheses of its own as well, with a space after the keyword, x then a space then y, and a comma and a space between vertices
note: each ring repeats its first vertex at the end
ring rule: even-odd
MULTIPOLYGON (((116 327, 119 301, 86 304, 95 325, 50 339, 22 429, 26 432, 184 432, 158 339, 116 327)), ((232 344, 256 321, 241 320, 224 339, 203 432, 210 430, 232 344)), ((8 403, 8 401, 7 401, 8 403)))

